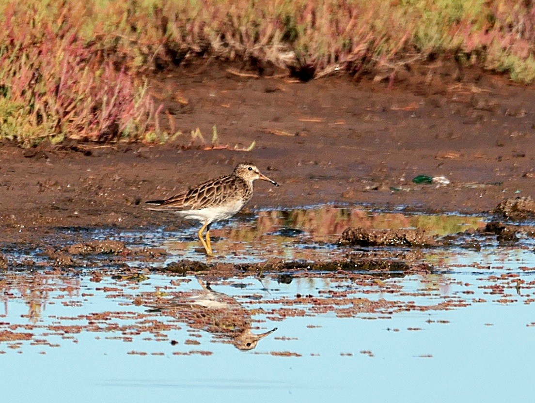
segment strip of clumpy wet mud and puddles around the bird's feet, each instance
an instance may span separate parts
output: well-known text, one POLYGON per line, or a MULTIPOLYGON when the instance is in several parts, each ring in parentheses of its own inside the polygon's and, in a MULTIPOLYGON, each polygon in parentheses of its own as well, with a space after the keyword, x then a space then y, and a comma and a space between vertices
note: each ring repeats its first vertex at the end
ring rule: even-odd
POLYGON ((518 244, 535 234, 524 223, 492 215, 414 214, 335 206, 259 211, 213 230, 216 257, 204 255, 195 227, 146 228, 116 233, 109 228, 63 228, 32 243, 4 245, 5 270, 113 270, 124 280, 149 273, 262 277, 281 273, 368 273, 384 278, 433 273, 425 253, 445 248, 480 250, 482 245, 518 244), (387 228, 385 228, 387 227, 387 228), (427 252, 426 252, 427 251, 427 252))

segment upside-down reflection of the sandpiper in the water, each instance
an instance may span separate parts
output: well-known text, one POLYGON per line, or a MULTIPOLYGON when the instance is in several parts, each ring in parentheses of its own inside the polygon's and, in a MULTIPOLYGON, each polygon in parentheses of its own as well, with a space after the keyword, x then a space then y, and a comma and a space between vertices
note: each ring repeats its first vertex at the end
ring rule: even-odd
POLYGON ((223 342, 231 343, 242 351, 253 350, 258 340, 277 330, 254 334, 251 331, 251 313, 238 301, 224 293, 214 291, 197 279, 202 290, 184 292, 179 297, 146 305, 147 312, 165 312, 193 329, 202 329, 223 342))

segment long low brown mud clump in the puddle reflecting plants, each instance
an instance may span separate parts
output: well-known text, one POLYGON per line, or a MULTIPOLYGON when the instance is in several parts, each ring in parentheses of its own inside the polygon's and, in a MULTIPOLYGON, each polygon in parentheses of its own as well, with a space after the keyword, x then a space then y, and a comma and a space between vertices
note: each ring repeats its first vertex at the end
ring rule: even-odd
POLYGON ((417 229, 346 228, 338 241, 341 245, 358 246, 435 246, 433 237, 417 229))

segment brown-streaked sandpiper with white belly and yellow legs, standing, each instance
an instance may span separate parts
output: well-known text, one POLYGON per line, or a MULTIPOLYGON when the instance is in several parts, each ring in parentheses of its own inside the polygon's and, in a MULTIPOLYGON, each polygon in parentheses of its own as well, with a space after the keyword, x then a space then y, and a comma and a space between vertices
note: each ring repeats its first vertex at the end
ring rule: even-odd
POLYGON ((231 175, 220 176, 198 184, 194 188, 165 200, 150 200, 145 203, 154 207, 147 210, 172 212, 186 220, 202 223, 197 234, 208 256, 213 256, 210 242, 210 226, 227 220, 238 213, 253 197, 253 182, 257 179, 279 184, 260 172, 255 164, 242 162, 231 175), (206 239, 203 232, 206 230, 206 239))

